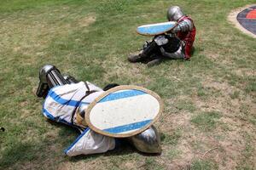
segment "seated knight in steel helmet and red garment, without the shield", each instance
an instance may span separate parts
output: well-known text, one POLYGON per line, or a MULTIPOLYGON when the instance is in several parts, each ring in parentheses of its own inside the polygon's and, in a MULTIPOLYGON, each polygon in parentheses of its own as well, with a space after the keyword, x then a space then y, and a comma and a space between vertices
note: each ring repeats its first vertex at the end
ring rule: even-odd
POLYGON ((193 20, 177 6, 168 8, 167 19, 176 21, 177 26, 165 34, 155 36, 151 42, 146 42, 140 54, 128 57, 130 62, 146 62, 151 66, 159 64, 162 59, 191 57, 196 31, 193 20))

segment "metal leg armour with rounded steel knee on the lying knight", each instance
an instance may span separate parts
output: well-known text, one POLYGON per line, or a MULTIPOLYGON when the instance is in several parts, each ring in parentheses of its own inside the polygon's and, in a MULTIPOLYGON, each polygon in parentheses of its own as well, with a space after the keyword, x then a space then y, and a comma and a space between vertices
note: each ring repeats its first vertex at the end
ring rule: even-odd
POLYGON ((40 98, 45 98, 48 94, 49 88, 68 83, 67 80, 61 76, 61 72, 55 67, 55 65, 44 65, 44 67, 39 71, 39 80, 37 96, 40 98))

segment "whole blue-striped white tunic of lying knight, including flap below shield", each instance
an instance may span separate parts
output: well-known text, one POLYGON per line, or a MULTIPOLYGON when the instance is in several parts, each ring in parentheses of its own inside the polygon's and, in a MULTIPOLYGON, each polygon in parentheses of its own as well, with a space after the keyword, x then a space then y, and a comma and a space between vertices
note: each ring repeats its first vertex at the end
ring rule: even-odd
MULTIPOLYGON (((43 114, 48 119, 65 123, 69 126, 73 126, 71 118, 73 111, 81 105, 89 105, 96 97, 103 93, 101 88, 96 87, 94 84, 87 82, 90 90, 96 90, 96 93, 90 94, 85 97, 81 102, 80 100, 84 97, 87 88, 84 82, 76 84, 66 84, 51 88, 48 96, 44 100, 43 114)), ((74 127, 79 127, 76 124, 75 117, 73 119, 75 124, 74 127)), ((89 127, 82 127, 81 134, 73 144, 71 144, 65 150, 67 156, 77 156, 80 154, 89 155, 96 153, 103 153, 108 150, 113 150, 115 147, 115 140, 102 134, 95 133, 90 130, 89 127)))

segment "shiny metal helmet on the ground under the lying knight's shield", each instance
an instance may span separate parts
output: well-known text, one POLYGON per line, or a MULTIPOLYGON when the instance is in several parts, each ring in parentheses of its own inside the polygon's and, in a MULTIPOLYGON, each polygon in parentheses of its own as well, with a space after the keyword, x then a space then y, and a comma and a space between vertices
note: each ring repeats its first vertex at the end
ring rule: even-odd
POLYGON ((154 126, 149 127, 142 133, 129 138, 137 150, 144 153, 159 154, 162 149, 160 146, 160 135, 154 126))

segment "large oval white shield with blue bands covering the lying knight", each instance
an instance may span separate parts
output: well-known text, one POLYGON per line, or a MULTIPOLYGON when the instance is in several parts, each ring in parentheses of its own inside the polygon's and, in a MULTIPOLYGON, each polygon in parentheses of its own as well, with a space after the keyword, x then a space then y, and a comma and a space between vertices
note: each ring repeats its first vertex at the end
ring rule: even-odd
POLYGON ((96 133, 125 138, 150 127, 161 111, 158 94, 137 86, 118 86, 90 103, 85 122, 96 133))

